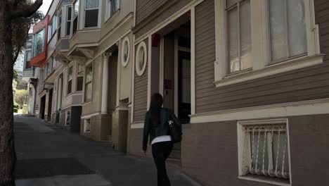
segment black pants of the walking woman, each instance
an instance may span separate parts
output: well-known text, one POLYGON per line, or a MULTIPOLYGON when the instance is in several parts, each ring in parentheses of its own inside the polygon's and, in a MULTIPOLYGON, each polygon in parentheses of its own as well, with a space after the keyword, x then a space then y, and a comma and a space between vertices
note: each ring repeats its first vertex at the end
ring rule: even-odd
POLYGON ((152 144, 152 154, 157 166, 157 186, 170 186, 166 170, 166 159, 172 152, 172 142, 157 142, 152 144))

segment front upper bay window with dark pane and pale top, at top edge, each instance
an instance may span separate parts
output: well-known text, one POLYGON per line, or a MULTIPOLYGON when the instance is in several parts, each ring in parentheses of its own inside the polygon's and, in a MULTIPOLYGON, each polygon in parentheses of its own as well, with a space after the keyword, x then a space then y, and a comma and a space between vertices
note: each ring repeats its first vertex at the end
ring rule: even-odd
POLYGON ((98 0, 85 0, 84 27, 97 27, 98 25, 98 0))

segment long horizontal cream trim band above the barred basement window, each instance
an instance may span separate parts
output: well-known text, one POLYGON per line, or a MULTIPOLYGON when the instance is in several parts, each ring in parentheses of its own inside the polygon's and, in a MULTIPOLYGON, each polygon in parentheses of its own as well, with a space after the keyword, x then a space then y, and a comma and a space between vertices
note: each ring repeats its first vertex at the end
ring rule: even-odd
POLYGON ((197 113, 195 115, 191 115, 191 123, 303 116, 325 113, 329 113, 329 99, 314 99, 285 104, 272 104, 266 106, 253 106, 241 109, 214 111, 209 113, 197 113))

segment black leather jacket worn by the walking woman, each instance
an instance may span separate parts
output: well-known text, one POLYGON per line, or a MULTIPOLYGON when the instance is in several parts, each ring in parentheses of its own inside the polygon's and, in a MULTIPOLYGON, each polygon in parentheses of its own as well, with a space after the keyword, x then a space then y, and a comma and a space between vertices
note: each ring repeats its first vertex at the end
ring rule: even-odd
POLYGON ((175 125, 181 129, 181 122, 176 118, 175 114, 166 108, 162 108, 160 111, 160 125, 154 127, 150 123, 150 111, 146 112, 144 130, 143 130, 143 150, 146 151, 148 147, 148 136, 150 135, 150 142, 155 137, 162 135, 169 135, 169 123, 168 121, 174 121, 175 125))

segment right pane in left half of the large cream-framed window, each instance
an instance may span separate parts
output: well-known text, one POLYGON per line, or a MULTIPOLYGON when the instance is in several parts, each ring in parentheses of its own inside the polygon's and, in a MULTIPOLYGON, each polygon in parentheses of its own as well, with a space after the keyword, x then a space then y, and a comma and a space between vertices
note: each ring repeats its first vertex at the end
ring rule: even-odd
POLYGON ((240 4, 240 70, 252 68, 251 51, 250 1, 247 0, 240 4))

